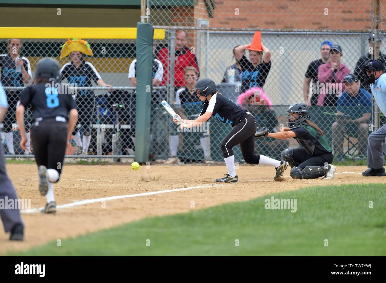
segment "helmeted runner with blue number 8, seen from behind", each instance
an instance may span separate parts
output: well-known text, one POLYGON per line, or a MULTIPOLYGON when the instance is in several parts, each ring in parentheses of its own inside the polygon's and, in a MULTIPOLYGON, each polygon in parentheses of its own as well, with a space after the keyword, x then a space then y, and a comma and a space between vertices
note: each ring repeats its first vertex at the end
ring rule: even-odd
POLYGON ((16 110, 23 149, 27 142, 24 111, 28 105, 32 110, 32 146, 39 171, 39 192, 47 198, 44 213, 56 212, 54 183, 59 181, 66 145, 78 119, 78 111, 67 86, 52 87, 52 80, 56 83, 59 79, 58 61, 51 58, 40 60, 36 66, 35 84, 22 91, 16 110))

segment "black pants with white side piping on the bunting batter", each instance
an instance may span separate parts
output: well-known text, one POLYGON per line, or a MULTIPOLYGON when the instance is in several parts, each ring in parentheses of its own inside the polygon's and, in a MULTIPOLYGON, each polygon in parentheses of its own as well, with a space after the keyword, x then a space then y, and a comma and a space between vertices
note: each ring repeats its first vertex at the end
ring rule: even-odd
POLYGON ((240 149, 245 162, 259 164, 260 155, 255 152, 255 133, 257 121, 251 114, 245 113, 236 126, 221 143, 221 151, 224 158, 233 155, 232 147, 240 144, 240 149))

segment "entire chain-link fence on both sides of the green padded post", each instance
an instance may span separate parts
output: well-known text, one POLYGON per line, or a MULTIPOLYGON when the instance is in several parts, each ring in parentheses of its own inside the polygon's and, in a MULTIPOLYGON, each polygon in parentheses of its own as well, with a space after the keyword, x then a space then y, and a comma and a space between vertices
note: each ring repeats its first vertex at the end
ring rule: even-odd
MULTIPOLYGON (((191 99, 189 89, 204 77, 213 79, 220 93, 248 109, 256 116, 258 126, 270 131, 285 126, 285 111, 290 104, 306 102, 311 120, 332 145, 335 160, 366 158, 374 100, 358 75, 360 65, 366 57, 372 57, 378 45, 372 36, 372 4, 370 0, 147 0, 147 20, 154 28, 166 30, 164 39, 154 40, 149 160, 166 164, 223 161, 220 144, 229 127, 213 117, 195 132, 181 132, 161 106, 161 101, 167 100, 183 118, 198 117, 201 104, 191 99), (257 30, 261 31, 263 52, 245 47, 252 43, 257 30), (235 56, 236 47, 242 53, 240 60, 235 56)), ((383 3, 383 19, 382 7, 383 3)), ((380 40, 384 39, 383 27, 381 21, 380 40)), ((86 40, 94 54, 83 56, 84 60, 113 88, 108 91, 108 87, 101 87, 103 84, 98 84, 98 77, 91 73, 87 82, 76 75, 63 76, 64 82, 81 87, 76 97, 80 121, 67 154, 134 157, 135 40, 86 40)), ((33 75, 28 82, 23 81, 15 72, 15 64, 4 59, 10 54, 8 41, 0 40, 1 81, 10 105, 1 125, 1 138, 8 156, 25 156, 30 152, 19 147, 14 112, 20 89, 32 83, 33 75)), ((64 41, 21 39, 20 56, 29 61, 25 69, 33 73, 42 57, 55 57, 62 67, 71 65, 73 57, 60 58, 64 41)), ((382 41, 379 48, 384 61, 382 41)), ((27 115, 26 124, 30 124, 30 112, 27 115)), ((381 125, 385 122, 381 115, 381 125)), ((298 144, 294 139, 256 140, 256 153, 275 159, 280 159, 286 147, 298 144)), ((239 147, 235 160, 242 162, 239 147)))

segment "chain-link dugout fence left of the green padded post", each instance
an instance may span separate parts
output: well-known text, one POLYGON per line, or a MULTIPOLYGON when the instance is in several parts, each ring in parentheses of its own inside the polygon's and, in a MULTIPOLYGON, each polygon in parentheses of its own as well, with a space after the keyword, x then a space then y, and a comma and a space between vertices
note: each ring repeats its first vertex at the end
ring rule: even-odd
MULTIPOLYGON (((133 156, 135 143, 135 40, 88 39, 93 56, 72 52, 60 58, 66 40, 57 39, 1 39, 1 82, 8 99, 8 112, 3 122, 1 141, 7 156, 32 156, 30 142, 27 151, 20 148, 20 134, 15 110, 20 92, 34 81, 37 62, 53 57, 61 65, 62 82, 74 88, 79 113, 71 147, 66 154, 76 157, 133 156), (19 50, 15 52, 14 50, 19 50), (15 59, 23 60, 17 70, 15 59), (80 64, 77 64, 80 62, 80 64), (130 70, 130 72, 129 72, 130 70), (25 75, 24 75, 25 74, 25 75), (110 88, 107 85, 112 85, 110 88), (99 123, 98 123, 99 112, 99 123), (97 130, 100 129, 100 149, 97 130)), ((25 126, 31 125, 27 109, 25 126)), ((30 140, 30 134, 27 133, 30 140)))

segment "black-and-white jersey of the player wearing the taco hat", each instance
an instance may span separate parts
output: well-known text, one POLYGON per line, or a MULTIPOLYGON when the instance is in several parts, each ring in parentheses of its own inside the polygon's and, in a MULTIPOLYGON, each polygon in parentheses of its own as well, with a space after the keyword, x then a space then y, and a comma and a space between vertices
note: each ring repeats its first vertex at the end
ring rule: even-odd
MULTIPOLYGON (((78 87, 91 87, 92 81, 97 83, 101 79, 97 70, 90 62, 82 60, 78 68, 72 62, 65 64, 60 70, 62 79, 67 79, 69 84, 77 84, 78 87)), ((79 95, 93 94, 91 90, 81 90, 79 95)))

